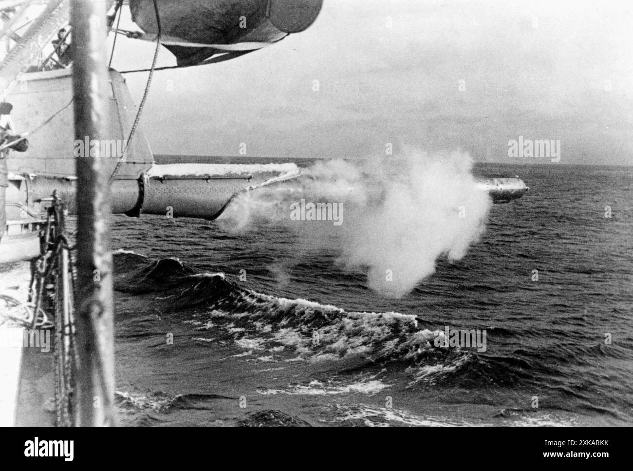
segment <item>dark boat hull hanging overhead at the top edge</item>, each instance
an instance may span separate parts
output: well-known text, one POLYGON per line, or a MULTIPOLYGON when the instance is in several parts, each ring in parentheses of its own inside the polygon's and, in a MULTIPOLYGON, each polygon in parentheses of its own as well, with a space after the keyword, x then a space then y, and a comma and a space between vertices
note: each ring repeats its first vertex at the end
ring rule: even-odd
MULTIPOLYGON (((322 0, 159 0, 161 44, 179 66, 227 51, 252 51, 308 28, 322 0)), ((130 0, 132 20, 155 41, 153 0, 130 0)))

